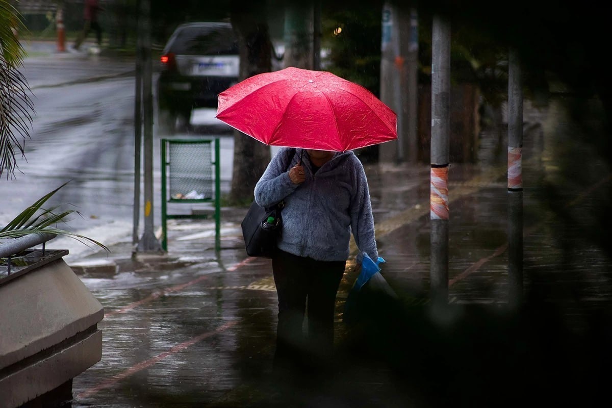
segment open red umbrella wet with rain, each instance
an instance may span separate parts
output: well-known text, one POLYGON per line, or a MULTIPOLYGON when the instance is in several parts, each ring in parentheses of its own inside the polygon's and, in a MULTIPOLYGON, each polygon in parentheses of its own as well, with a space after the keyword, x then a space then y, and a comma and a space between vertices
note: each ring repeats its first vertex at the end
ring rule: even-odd
POLYGON ((251 76, 218 96, 217 119, 272 146, 346 150, 397 139, 397 116, 364 87, 289 67, 251 76))

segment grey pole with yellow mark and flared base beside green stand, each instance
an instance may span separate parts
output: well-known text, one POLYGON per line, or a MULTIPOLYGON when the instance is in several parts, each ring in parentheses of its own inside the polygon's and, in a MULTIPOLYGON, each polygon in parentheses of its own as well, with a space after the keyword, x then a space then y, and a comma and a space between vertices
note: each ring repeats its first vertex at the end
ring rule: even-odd
POLYGON ((144 232, 136 251, 162 251, 153 230, 153 94, 151 64, 151 0, 141 0, 143 38, 144 232))

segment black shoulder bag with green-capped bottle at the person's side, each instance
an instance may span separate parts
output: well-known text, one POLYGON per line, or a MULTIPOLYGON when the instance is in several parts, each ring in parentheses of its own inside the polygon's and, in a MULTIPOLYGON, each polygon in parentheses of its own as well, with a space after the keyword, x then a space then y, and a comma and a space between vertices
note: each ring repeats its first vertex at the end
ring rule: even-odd
MULTIPOLYGON (((295 150, 289 159, 289 166, 291 166, 294 155, 295 150)), ((277 251, 278 237, 283 228, 280 212, 284 206, 285 201, 280 201, 274 206, 264 208, 253 200, 241 224, 248 256, 261 258, 274 256, 277 251)))

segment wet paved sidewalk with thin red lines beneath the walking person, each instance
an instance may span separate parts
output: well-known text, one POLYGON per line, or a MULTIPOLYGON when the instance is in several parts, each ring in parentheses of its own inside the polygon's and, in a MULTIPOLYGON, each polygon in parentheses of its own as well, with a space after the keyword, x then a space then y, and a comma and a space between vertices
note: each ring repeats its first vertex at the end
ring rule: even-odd
POLYGON ((520 310, 509 307, 505 131, 485 133, 478 165, 450 167, 444 310, 428 300, 429 166, 368 165, 382 273, 398 299, 366 291, 360 323, 343 323, 349 262, 333 379, 272 382, 271 262, 245 254, 246 209, 226 209, 219 254, 212 222, 173 220, 164 256, 131 258, 124 242, 84 260, 98 267, 74 267, 105 318, 102 360, 73 380, 72 407, 588 405, 611 362, 612 263, 598 222, 612 179, 556 109, 525 127, 520 310))

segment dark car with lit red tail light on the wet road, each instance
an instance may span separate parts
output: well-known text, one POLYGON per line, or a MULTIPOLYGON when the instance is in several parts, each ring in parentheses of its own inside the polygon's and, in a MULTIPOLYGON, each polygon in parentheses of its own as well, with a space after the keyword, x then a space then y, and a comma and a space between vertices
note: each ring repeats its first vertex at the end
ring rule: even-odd
POLYGON ((160 125, 188 124, 193 108, 215 108, 217 95, 238 82, 239 56, 230 23, 181 24, 163 48, 157 81, 160 125))

